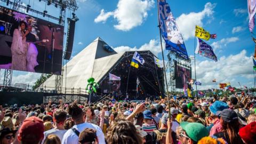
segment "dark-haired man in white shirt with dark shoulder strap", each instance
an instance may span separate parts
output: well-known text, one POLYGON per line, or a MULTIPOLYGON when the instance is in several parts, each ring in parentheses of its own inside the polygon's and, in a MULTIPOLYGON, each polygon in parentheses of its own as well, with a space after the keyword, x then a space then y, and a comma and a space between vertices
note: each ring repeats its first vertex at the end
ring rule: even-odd
POLYGON ((95 124, 85 123, 83 110, 78 107, 76 103, 72 103, 71 106, 68 106, 67 110, 71 119, 75 122, 75 125, 63 135, 61 141, 62 144, 77 144, 79 133, 86 128, 94 129, 96 131, 99 144, 105 144, 104 134, 100 127, 95 124))

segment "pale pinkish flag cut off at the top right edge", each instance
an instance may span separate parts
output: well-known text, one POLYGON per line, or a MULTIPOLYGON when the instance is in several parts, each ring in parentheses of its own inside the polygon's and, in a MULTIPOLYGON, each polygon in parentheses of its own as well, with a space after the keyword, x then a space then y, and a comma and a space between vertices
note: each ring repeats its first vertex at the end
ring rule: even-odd
POLYGON ((254 15, 256 12, 256 0, 247 0, 248 13, 249 13, 249 30, 252 30, 255 26, 254 15))

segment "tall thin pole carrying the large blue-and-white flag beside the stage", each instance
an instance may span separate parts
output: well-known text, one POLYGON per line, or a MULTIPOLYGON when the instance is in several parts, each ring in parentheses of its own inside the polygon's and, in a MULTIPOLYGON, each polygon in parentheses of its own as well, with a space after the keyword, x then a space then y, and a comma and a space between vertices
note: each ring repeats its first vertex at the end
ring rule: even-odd
POLYGON ((165 84, 166 84, 166 91, 167 91, 167 102, 168 102, 168 108, 169 108, 169 118, 171 120, 171 108, 170 108, 170 102, 169 102, 169 90, 167 85, 167 78, 166 78, 166 72, 165 72, 165 62, 164 62, 164 51, 163 51, 163 45, 162 45, 162 34, 161 34, 161 24, 159 20, 159 0, 157 0, 157 19, 158 19, 158 28, 159 28, 159 35, 160 35, 160 44, 161 44, 161 50, 162 50, 162 57, 163 57, 163 63, 164 63, 164 78, 165 78, 165 84))

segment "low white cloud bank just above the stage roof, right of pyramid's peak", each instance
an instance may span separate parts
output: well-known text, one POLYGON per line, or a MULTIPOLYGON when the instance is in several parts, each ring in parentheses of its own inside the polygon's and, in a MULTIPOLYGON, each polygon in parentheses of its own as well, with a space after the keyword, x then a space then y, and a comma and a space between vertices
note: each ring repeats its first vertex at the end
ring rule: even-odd
POLYGON ((160 42, 156 41, 155 39, 151 39, 149 41, 149 43, 143 44, 139 48, 137 48, 136 46, 134 46, 134 47, 118 46, 118 47, 115 47, 114 50, 118 53, 126 52, 126 51, 147 51, 147 50, 150 50, 156 56, 157 56, 158 53, 162 52, 160 42))

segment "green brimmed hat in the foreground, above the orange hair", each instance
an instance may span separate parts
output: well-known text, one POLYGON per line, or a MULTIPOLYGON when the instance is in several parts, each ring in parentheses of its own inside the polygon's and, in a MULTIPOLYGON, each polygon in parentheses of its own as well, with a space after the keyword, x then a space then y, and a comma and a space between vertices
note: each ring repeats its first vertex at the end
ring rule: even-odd
POLYGON ((194 142, 197 142, 201 138, 207 137, 209 135, 209 131, 201 123, 181 122, 180 126, 183 130, 185 130, 188 137, 194 142))

